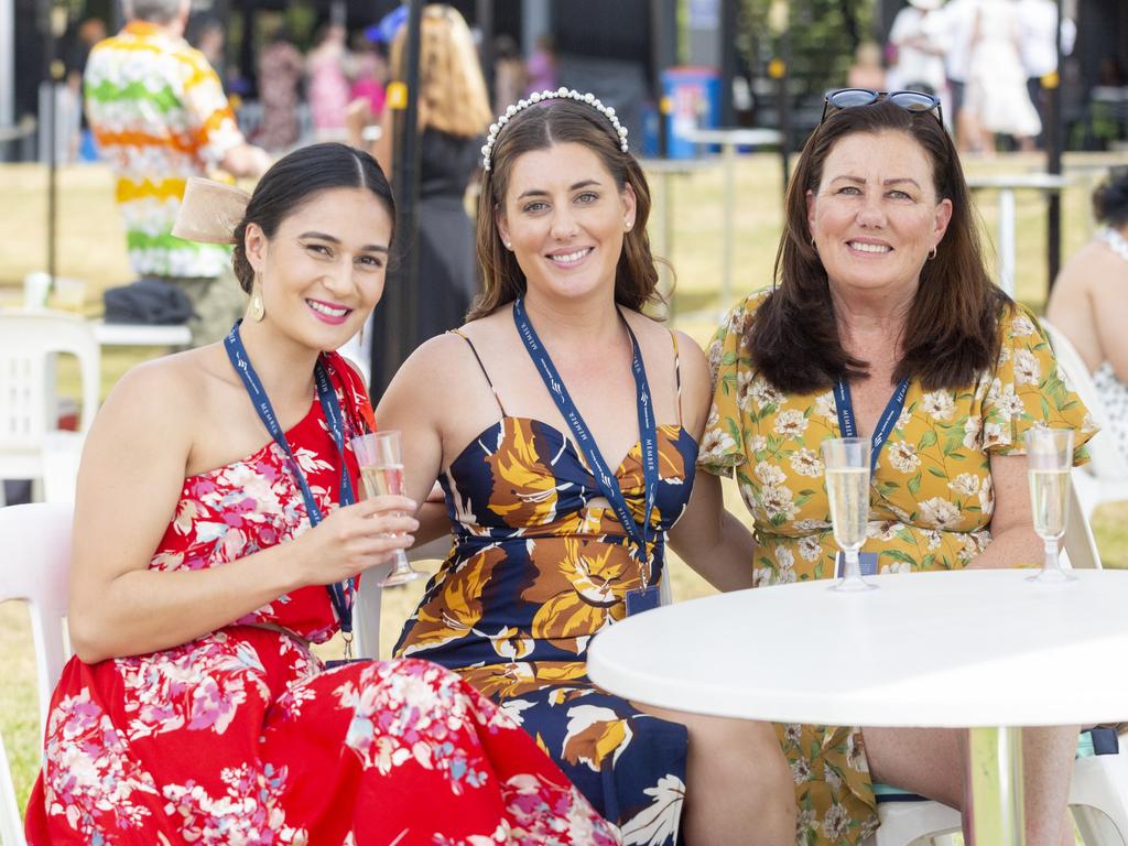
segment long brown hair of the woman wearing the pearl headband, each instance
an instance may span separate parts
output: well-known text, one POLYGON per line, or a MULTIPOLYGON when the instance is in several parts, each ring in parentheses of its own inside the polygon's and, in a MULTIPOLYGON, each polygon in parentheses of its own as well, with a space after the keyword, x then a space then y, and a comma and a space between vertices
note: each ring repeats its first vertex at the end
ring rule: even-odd
POLYGON ((588 104, 559 98, 518 112, 497 134, 490 170, 483 176, 478 195, 477 248, 485 288, 474 301, 468 320, 485 317, 525 293, 525 273, 505 249, 495 217, 497 210, 505 210, 513 164, 531 150, 566 143, 581 144, 596 153, 620 193, 627 185, 634 190, 635 220, 631 231, 623 236, 623 253, 615 268, 615 301, 638 311, 660 299, 658 268, 646 235, 650 218, 646 177, 634 156, 619 149, 619 136, 603 115, 588 104))

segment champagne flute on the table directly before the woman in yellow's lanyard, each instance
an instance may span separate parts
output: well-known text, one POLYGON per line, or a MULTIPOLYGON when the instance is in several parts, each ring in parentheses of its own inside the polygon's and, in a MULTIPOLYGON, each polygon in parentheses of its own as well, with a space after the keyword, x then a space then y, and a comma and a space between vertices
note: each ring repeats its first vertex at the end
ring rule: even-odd
POLYGON ((846 557, 846 572, 830 590, 846 592, 876 589, 862 578, 858 553, 870 520, 870 440, 831 438, 822 442, 827 497, 835 540, 846 557))

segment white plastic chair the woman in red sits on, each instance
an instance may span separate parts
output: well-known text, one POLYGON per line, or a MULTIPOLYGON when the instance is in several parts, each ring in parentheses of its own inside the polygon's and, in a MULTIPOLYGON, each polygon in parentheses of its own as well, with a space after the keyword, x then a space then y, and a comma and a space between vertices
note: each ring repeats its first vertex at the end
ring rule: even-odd
MULTIPOLYGON (((71 520, 65 503, 37 502, 0 509, 0 602, 25 600, 32 616, 39 737, 44 735, 51 693, 69 653, 63 628, 69 594, 71 520)), ((11 769, 0 739, 0 837, 5 846, 25 846, 11 769)))

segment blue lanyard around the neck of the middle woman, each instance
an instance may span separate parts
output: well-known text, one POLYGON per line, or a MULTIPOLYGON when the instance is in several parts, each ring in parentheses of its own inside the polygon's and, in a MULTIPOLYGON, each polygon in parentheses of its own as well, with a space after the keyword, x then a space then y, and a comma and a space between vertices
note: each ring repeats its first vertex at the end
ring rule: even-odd
POLYGON ((569 429, 572 430, 576 443, 579 443, 580 449, 583 451, 583 457, 588 460, 588 465, 596 477, 599 492, 611 503, 611 508, 615 509, 619 522, 623 523, 623 528, 626 529, 631 539, 635 543, 635 557, 643 564, 642 587, 645 589, 650 582, 650 576, 653 574, 652 567, 647 563, 649 556, 646 549, 650 537, 655 534, 651 528, 650 520, 654 510, 654 496, 658 492, 659 483, 658 424, 654 422, 654 409, 650 400, 650 384, 646 380, 646 368, 643 364, 642 352, 638 350, 638 340, 635 337, 634 332, 631 331, 629 324, 624 319, 623 325, 626 326, 627 334, 631 336, 631 369, 634 373, 635 389, 638 396, 638 435, 642 444, 643 487, 645 488, 642 526, 636 523, 634 517, 631 514, 631 509, 627 506, 627 501, 623 495, 623 490, 619 487, 618 479, 607 467, 607 462, 603 460, 599 447, 596 444, 596 439, 591 437, 588 424, 583 422, 583 417, 580 416, 575 403, 569 396, 567 388, 564 387, 564 380, 561 379, 552 359, 548 358, 548 351, 545 350, 545 345, 537 337, 532 324, 529 323, 521 298, 518 298, 513 302, 513 320, 517 323, 517 331, 521 335, 521 341, 525 342, 525 349, 529 352, 534 363, 537 364, 540 378, 545 381, 545 387, 548 388, 548 393, 556 403, 556 407, 567 422, 569 429))

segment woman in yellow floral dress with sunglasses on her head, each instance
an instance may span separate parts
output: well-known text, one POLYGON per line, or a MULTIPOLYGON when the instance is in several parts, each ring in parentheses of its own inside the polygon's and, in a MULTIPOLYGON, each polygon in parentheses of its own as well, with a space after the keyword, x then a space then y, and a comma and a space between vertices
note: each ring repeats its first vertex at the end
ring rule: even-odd
MULTIPOLYGON (((879 417, 892 423, 874 443, 863 547, 882 573, 1040 561, 1023 432, 1076 430, 1081 461, 1095 431, 1037 319, 988 279, 938 103, 892 100, 856 89, 828 97, 788 193, 778 287, 740 303, 708 351, 713 408, 698 465, 735 473, 755 523, 757 585, 835 574, 819 447, 843 437, 839 412, 866 438, 884 429, 879 417)), ((871 831, 871 774, 959 807, 959 732, 777 731, 800 844, 856 844, 871 831)), ((1028 841, 1072 843, 1076 731, 1025 734, 1028 841)))

